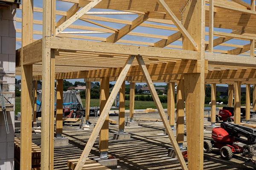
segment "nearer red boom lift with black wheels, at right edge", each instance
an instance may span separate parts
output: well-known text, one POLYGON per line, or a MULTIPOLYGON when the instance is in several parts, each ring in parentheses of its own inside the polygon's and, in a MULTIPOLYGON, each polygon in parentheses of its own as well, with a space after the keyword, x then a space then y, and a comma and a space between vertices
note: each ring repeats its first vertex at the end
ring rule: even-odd
POLYGON ((212 139, 204 141, 205 153, 211 153, 213 148, 218 148, 223 159, 229 160, 233 154, 242 153, 249 156, 250 162, 254 162, 252 145, 256 144, 256 129, 223 122, 221 127, 212 129, 212 139))

